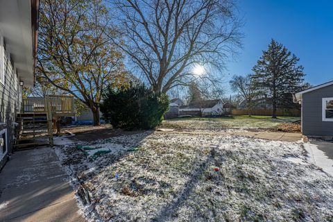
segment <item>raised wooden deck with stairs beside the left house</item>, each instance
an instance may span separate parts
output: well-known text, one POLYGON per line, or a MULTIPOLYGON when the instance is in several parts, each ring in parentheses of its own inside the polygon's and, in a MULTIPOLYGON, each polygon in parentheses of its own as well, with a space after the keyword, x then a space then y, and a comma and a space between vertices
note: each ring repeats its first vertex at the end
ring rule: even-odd
POLYGON ((22 99, 22 109, 16 119, 15 149, 53 146, 53 121, 73 115, 73 96, 48 95, 22 99))

